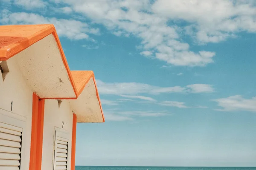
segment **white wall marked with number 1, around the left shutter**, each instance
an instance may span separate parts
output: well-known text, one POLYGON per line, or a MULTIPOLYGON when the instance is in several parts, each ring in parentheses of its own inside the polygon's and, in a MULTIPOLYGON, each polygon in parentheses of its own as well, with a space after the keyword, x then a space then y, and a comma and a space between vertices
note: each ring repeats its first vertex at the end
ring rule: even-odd
POLYGON ((28 170, 33 92, 26 85, 15 57, 8 59, 7 65, 9 67, 9 73, 6 75, 4 81, 0 74, 0 114, 25 121, 22 136, 21 168, 22 170, 28 170))

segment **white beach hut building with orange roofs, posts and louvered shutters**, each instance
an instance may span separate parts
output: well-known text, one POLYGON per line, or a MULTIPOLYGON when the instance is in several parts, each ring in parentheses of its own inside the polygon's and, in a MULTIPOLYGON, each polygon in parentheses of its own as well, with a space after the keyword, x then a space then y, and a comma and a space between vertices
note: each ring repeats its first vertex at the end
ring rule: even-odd
POLYGON ((0 26, 0 170, 74 170, 77 122, 105 122, 93 71, 52 24, 0 26))

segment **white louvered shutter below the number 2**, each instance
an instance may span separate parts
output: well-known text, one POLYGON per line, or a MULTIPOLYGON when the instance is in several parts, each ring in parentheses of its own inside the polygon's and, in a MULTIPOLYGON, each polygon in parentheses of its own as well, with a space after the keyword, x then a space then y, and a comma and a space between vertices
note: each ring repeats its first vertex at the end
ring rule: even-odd
POLYGON ((67 170, 68 135, 55 131, 54 170, 67 170))

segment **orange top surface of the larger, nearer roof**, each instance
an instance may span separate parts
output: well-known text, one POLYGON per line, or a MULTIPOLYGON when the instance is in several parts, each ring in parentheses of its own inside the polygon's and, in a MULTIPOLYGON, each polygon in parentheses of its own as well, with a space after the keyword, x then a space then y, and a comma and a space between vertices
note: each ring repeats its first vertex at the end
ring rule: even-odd
POLYGON ((0 26, 0 60, 13 57, 54 31, 52 24, 0 26))

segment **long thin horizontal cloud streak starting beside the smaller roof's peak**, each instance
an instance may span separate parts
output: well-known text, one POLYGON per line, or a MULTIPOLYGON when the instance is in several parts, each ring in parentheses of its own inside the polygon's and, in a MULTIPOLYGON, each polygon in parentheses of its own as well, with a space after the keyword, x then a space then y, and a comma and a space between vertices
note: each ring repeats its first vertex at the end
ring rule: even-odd
POLYGON ((210 93, 214 89, 207 84, 187 85, 186 87, 158 87, 136 82, 106 83, 97 80, 100 94, 137 95, 137 94, 161 94, 161 93, 210 93))

